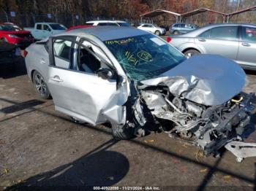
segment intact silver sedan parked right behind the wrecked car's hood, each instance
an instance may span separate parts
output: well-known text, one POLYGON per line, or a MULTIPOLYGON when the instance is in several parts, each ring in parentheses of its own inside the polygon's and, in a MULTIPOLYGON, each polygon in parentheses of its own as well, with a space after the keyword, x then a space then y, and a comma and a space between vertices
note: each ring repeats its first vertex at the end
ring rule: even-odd
POLYGON ((181 36, 171 36, 170 44, 187 57, 198 54, 222 55, 244 69, 256 69, 256 25, 215 24, 181 36))

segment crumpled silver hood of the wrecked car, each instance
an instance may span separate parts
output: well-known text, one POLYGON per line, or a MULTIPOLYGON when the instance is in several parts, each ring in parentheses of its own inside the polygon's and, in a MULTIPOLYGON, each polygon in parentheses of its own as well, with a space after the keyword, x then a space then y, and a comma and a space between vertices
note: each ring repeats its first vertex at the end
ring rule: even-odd
POLYGON ((167 86, 173 95, 206 106, 230 100, 245 82, 244 70, 219 55, 196 55, 159 77, 141 81, 143 87, 167 86))

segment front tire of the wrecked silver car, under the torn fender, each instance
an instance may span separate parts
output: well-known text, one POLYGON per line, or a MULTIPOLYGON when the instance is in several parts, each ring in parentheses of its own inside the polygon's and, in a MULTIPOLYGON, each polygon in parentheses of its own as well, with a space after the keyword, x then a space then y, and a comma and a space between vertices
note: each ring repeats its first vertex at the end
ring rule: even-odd
POLYGON ((111 124, 113 138, 116 140, 129 140, 134 138, 134 128, 128 125, 111 124))

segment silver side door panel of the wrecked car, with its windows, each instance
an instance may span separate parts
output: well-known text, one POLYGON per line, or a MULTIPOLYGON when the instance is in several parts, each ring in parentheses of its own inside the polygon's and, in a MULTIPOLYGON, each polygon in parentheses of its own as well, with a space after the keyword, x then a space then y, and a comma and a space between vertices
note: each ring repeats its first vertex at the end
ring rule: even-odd
POLYGON ((98 77, 102 63, 93 50, 65 39, 53 39, 52 43, 48 87, 56 110, 92 125, 105 122, 102 111, 116 94, 116 79, 98 77), (61 43, 70 44, 69 50, 61 43), (61 54, 62 51, 66 52, 61 54), (61 57, 67 52, 68 57, 61 57))

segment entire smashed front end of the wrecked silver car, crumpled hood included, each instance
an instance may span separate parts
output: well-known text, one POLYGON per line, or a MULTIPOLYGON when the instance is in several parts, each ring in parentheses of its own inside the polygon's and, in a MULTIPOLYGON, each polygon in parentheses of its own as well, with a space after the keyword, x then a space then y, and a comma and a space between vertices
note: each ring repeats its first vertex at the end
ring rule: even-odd
POLYGON ((256 144, 242 142, 255 112, 255 94, 241 93, 246 75, 233 61, 207 57, 207 63, 206 55, 190 58, 162 77, 142 81, 135 119, 145 129, 154 121, 170 137, 197 145, 206 156, 218 155, 222 147, 238 161, 256 156, 256 144))

